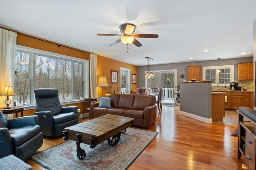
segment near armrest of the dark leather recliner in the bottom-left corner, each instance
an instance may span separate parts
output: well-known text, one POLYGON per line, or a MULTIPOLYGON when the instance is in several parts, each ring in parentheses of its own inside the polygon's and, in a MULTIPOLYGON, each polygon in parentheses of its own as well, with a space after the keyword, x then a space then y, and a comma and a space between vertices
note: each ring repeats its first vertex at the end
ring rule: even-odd
POLYGON ((13 154, 12 137, 6 127, 0 128, 0 158, 13 154))

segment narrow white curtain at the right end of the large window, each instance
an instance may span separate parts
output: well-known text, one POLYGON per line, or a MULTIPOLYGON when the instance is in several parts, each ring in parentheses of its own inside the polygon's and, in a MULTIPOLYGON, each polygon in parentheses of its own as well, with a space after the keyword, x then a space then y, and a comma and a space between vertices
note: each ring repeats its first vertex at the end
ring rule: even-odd
POLYGON ((98 56, 95 54, 90 54, 90 91, 91 98, 98 98, 97 93, 97 59, 98 56))

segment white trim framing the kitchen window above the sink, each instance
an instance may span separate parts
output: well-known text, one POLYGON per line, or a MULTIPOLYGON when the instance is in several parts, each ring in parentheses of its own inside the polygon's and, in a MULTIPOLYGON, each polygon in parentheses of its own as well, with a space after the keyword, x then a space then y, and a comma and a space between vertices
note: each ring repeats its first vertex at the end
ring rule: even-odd
MULTIPOLYGON (((235 80, 235 73, 234 73, 234 65, 222 65, 222 66, 203 66, 203 80, 205 80, 205 72, 206 69, 216 69, 216 83, 213 83, 212 86, 217 86, 217 83, 220 82, 219 80, 219 73, 217 72, 218 69, 230 68, 230 82, 234 82, 235 80)), ((229 86, 230 84, 220 84, 220 86, 229 86)))

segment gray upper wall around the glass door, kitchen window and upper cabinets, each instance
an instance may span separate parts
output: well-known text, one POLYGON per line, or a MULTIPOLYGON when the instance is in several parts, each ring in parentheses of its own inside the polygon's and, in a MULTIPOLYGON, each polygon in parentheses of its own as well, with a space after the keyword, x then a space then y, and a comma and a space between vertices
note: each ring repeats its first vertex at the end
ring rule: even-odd
MULTIPOLYGON (((234 58, 234 59, 220 59, 220 66, 221 65, 233 65, 234 64, 234 67, 235 67, 234 77, 235 77, 235 80, 237 80, 237 63, 244 63, 244 62, 253 62, 253 57, 243 57, 243 58, 234 58)), ((177 69, 177 83, 179 83, 179 82, 183 82, 183 80, 180 78, 180 74, 185 74, 185 79, 187 80, 187 78, 186 78, 187 77, 186 66, 194 66, 194 65, 218 66, 218 60, 216 59, 216 60, 209 60, 209 61, 194 61, 194 62, 186 62, 186 63, 153 65, 152 70, 177 69)), ((138 66, 137 76, 138 76, 138 87, 145 87, 145 66, 138 66)))

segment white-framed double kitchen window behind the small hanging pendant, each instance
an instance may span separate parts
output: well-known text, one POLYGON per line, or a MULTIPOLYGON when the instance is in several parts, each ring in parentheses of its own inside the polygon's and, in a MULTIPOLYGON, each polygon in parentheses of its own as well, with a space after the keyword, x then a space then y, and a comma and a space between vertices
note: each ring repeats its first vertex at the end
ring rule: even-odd
POLYGON ((234 82, 234 65, 224 66, 204 66, 203 80, 212 81, 213 86, 229 86, 230 82, 234 82), (220 68, 220 73, 218 69, 220 68))

